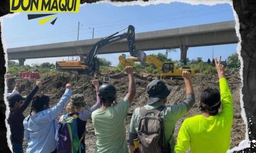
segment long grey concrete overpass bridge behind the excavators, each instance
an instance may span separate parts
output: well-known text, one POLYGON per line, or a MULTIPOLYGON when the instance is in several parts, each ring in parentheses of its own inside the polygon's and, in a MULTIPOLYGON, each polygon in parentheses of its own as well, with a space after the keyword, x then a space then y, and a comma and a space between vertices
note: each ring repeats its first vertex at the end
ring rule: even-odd
MULTIPOLYGON (((141 32, 135 34, 136 49, 147 51, 180 48, 180 59, 186 59, 187 49, 190 47, 237 43, 238 38, 234 26, 234 21, 225 21, 168 30, 141 32)), ((19 65, 23 65, 26 59, 81 56, 81 54, 88 53, 94 43, 100 39, 9 48, 7 49, 8 59, 19 60, 19 65)), ((99 54, 122 52, 128 52, 125 39, 102 48, 99 54)))

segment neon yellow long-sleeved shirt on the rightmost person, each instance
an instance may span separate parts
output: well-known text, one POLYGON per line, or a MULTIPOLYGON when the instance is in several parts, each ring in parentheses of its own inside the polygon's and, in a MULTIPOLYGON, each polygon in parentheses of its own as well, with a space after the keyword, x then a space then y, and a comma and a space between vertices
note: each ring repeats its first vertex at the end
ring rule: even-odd
POLYGON ((175 152, 222 153, 230 148, 230 135, 233 122, 233 100, 225 78, 219 79, 222 112, 206 118, 195 115, 182 123, 177 136, 175 152))

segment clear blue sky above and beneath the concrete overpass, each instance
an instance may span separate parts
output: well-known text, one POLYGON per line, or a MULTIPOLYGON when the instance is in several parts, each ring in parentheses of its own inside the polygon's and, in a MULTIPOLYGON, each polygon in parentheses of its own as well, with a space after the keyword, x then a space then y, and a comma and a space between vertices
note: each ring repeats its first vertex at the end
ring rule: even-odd
MULTIPOLYGON (((214 6, 190 5, 188 3, 172 2, 148 6, 114 6, 111 3, 93 3, 80 5, 79 13, 58 13, 55 24, 51 21, 40 25, 38 19, 28 20, 27 14, 17 13, 15 16, 3 17, 2 39, 7 48, 22 46, 42 45, 56 42, 106 37, 128 25, 135 27, 135 32, 165 30, 170 28, 187 27, 208 23, 234 20, 233 7, 228 3, 214 6), (80 28, 78 30, 78 23, 80 28)), ((227 59, 236 53, 237 44, 215 45, 189 48, 187 57, 196 59, 202 57, 207 61, 214 57, 222 56, 227 59)), ((165 53, 165 50, 146 51, 146 54, 165 53)), ((122 53, 99 54, 115 66, 119 63, 118 56, 122 53)), ((129 55, 129 53, 125 53, 129 55)), ((180 49, 169 52, 168 58, 180 59, 180 49)), ((27 59, 24 64, 41 64, 44 62, 55 63, 59 60, 71 60, 77 57, 54 57, 45 59, 27 59)), ((17 60, 16 60, 17 61, 17 60)))

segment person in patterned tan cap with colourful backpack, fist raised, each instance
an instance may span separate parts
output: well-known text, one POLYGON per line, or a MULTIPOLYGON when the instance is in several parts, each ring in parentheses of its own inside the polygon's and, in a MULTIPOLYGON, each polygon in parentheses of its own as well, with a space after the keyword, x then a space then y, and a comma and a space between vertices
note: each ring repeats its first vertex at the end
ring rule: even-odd
MULTIPOLYGON (((69 103, 66 106, 67 113, 62 115, 59 120, 59 129, 65 129, 63 128, 63 120, 67 118, 73 118, 74 120, 74 127, 76 127, 77 130, 73 130, 72 133, 66 132, 65 130, 59 131, 59 133, 56 135, 58 143, 57 144, 57 152, 65 152, 67 151, 67 148, 73 148, 73 150, 77 150, 77 153, 85 153, 86 152, 86 144, 84 142, 84 137, 86 134, 86 122, 91 117, 91 113, 99 108, 101 105, 101 101, 99 99, 99 81, 93 80, 93 85, 95 87, 96 92, 96 103, 91 108, 85 108, 86 107, 86 101, 84 101, 83 94, 73 94, 70 98, 69 103), (75 132, 76 131, 76 132, 75 132), (70 146, 70 141, 67 141, 66 138, 67 135, 74 135, 77 137, 77 140, 79 140, 78 145, 70 146), (62 140, 64 139, 64 140, 62 140), (62 144, 63 143, 63 144, 62 144), (65 144, 65 145, 64 145, 65 144), (58 146, 60 146, 58 148, 58 146)), ((69 121, 71 122, 71 121, 69 121)), ((65 123, 65 122, 64 122, 65 123)), ((56 138, 56 137, 55 137, 56 138)))

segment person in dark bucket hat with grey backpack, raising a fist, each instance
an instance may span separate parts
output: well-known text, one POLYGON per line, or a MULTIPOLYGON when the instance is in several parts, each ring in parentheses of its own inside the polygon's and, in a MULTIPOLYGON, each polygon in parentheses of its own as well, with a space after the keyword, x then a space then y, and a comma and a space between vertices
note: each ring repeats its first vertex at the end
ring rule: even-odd
MULTIPOLYGON (((190 108, 193 107, 195 103, 195 95, 191 85, 190 72, 183 71, 182 77, 184 79, 185 88, 186 88, 186 100, 180 101, 180 103, 175 105, 165 105, 168 101, 167 97, 169 96, 172 90, 172 86, 158 79, 154 79, 153 81, 148 83, 147 104, 144 105, 143 107, 136 108, 133 112, 133 116, 131 116, 130 133, 129 133, 129 144, 130 144, 131 153, 133 153, 135 150, 133 141, 136 139, 140 139, 140 142, 142 141, 145 142, 145 143, 140 143, 141 145, 140 150, 142 152, 168 152, 168 153, 174 152, 175 138, 173 136, 173 132, 175 130, 176 122, 183 115, 185 115, 190 110, 190 108), (158 142, 156 142, 161 146, 151 145, 151 141, 147 141, 148 137, 151 137, 154 134, 152 133, 140 134, 142 129, 145 129, 145 131, 147 132, 152 130, 152 127, 143 125, 143 123, 145 122, 142 122, 141 119, 145 118, 148 115, 150 116, 155 115, 155 113, 152 113, 152 112, 156 112, 156 111, 159 111, 158 116, 160 116, 162 120, 162 125, 163 125, 163 133, 159 134, 161 136, 159 137, 159 139, 157 138, 158 142), (145 116, 142 116, 142 114, 145 114, 145 116), (145 136, 145 134, 148 134, 148 135, 145 136), (141 140, 141 139, 144 139, 144 140, 141 140), (161 141, 161 143, 159 141, 161 141)), ((154 125, 154 126, 158 126, 158 125, 154 125)))

